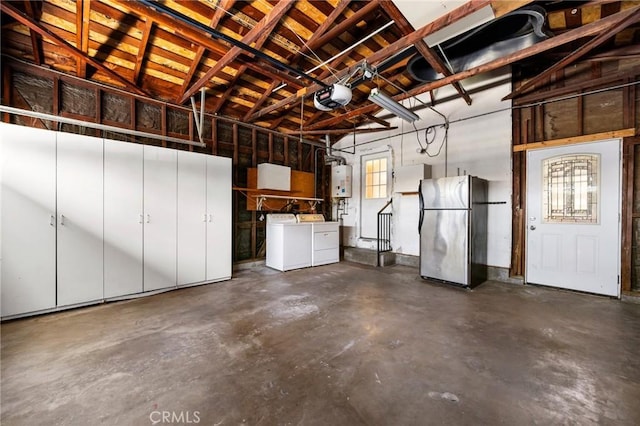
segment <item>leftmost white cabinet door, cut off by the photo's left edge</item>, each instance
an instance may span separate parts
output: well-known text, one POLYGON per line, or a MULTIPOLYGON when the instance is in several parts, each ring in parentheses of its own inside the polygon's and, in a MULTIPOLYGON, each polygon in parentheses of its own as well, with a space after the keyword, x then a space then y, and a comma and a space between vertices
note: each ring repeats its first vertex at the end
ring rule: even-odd
POLYGON ((56 305, 56 134, 0 123, 1 315, 56 305))

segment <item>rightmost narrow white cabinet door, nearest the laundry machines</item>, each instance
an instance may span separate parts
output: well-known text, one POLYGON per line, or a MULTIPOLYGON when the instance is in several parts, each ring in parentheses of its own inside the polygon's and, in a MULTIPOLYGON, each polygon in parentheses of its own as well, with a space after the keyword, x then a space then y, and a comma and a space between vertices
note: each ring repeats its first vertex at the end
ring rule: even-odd
POLYGON ((207 281, 231 278, 231 159, 207 156, 207 281))

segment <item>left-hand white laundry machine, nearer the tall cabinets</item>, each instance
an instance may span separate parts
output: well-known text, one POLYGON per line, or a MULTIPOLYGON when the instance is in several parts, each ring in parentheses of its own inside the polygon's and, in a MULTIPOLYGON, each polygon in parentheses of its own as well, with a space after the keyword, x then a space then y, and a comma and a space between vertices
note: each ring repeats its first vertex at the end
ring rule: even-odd
POLYGON ((279 271, 311 266, 311 235, 311 223, 298 223, 294 214, 268 214, 266 265, 279 271))

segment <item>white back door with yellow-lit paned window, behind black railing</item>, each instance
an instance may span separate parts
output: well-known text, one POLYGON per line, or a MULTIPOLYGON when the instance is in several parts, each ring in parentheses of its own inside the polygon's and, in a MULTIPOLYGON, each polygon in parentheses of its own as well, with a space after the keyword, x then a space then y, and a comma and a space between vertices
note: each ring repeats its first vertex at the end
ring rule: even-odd
POLYGON ((378 211, 388 201, 391 160, 388 152, 360 157, 360 237, 378 238, 378 211))

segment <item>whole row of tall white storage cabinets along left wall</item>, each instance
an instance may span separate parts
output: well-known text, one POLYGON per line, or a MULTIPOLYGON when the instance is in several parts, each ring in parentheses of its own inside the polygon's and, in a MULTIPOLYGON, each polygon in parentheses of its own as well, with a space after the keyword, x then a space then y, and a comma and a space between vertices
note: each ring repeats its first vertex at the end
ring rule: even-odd
POLYGON ((2 318, 231 277, 230 159, 5 123, 0 136, 2 318))

